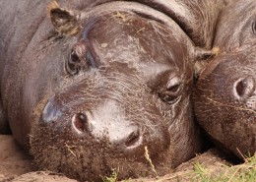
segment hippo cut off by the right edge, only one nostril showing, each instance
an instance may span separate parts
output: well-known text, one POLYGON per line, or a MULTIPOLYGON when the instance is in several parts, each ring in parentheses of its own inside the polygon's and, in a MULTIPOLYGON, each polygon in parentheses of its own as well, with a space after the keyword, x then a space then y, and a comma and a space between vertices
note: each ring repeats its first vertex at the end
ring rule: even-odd
POLYGON ((256 1, 235 1, 220 14, 210 61, 194 89, 194 109, 214 141, 240 158, 256 152, 256 1))

